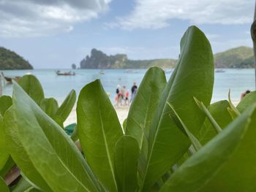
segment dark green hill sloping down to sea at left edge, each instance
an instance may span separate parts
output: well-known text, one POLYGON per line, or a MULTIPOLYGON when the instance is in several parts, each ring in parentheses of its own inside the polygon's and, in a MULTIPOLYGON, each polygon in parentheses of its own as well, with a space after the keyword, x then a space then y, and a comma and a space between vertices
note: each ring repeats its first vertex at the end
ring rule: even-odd
POLYGON ((33 69, 33 66, 17 53, 0 47, 0 70, 11 69, 33 69))

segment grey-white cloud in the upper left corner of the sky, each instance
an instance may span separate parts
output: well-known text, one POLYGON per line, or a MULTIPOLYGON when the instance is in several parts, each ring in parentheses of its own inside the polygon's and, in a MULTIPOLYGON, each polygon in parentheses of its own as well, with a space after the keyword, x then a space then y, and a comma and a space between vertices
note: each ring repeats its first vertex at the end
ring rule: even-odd
POLYGON ((0 0, 0 37, 37 37, 72 31, 97 18, 111 0, 0 0))

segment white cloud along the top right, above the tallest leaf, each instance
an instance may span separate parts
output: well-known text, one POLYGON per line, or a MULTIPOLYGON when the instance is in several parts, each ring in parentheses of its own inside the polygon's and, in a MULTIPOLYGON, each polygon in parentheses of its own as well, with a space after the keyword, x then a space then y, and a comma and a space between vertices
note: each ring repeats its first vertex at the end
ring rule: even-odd
POLYGON ((135 0, 132 12, 116 23, 128 30, 164 28, 172 19, 195 24, 251 23, 254 6, 254 0, 135 0))

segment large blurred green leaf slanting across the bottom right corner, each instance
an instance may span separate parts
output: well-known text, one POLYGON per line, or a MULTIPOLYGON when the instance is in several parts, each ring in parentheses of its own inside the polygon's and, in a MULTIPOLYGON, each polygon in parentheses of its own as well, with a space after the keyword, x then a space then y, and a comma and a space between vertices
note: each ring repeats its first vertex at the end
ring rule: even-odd
MULTIPOLYGON (((244 147, 241 145, 243 142, 244 144, 252 142, 252 140, 246 141, 252 112, 256 115, 255 106, 236 118, 217 137, 192 155, 174 172, 160 191, 255 191, 256 172, 252 167, 255 167, 256 146, 247 145, 247 149, 244 149, 245 145, 244 147), (242 152, 242 149, 245 151, 242 152), (248 152, 249 154, 246 154, 248 152), (246 158, 249 158, 249 161, 246 161, 246 158), (249 165, 246 164, 248 162, 249 165), (249 185, 244 185, 246 180, 249 185)), ((255 128, 252 129, 255 132, 255 128)), ((251 138, 255 138, 254 136, 255 134, 251 138)), ((255 139, 253 143, 256 144, 255 139)))

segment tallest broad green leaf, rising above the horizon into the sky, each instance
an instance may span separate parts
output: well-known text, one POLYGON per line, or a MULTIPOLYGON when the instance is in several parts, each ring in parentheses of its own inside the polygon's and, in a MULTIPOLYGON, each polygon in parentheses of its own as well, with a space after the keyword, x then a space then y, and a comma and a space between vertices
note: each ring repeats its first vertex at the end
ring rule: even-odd
POLYGON ((176 164, 187 151, 188 137, 170 119, 167 101, 192 134, 197 134, 205 115, 193 97, 210 104, 214 83, 214 59, 211 45, 200 29, 190 27, 181 39, 181 55, 167 83, 159 107, 151 123, 148 142, 148 161, 145 165, 143 191, 176 164))

